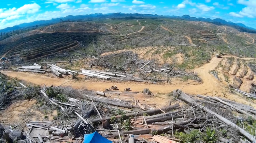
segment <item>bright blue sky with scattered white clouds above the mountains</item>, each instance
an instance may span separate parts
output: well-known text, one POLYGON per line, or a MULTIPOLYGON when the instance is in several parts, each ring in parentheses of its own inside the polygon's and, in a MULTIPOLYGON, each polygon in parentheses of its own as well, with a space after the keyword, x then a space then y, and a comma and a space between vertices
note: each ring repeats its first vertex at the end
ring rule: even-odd
POLYGON ((256 28, 256 0, 1 0, 0 29, 68 15, 115 12, 187 14, 256 28))

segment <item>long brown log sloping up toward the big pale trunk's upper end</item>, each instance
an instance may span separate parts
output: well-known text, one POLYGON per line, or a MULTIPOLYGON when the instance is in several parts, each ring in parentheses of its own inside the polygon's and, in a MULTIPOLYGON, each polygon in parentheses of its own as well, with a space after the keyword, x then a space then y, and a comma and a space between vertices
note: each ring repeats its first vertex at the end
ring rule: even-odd
MULTIPOLYGON (((163 107, 163 108, 161 108, 161 110, 168 111, 168 110, 171 110, 171 109, 178 108, 179 106, 180 106, 179 104, 174 104, 174 105, 171 105, 171 106, 163 107)), ((142 111, 142 112, 138 112, 138 113, 134 112, 134 113, 129 113, 129 114, 125 114, 125 115, 117 115, 117 116, 114 116, 114 117, 117 119, 117 118, 121 118, 123 116, 122 118, 125 120, 125 119, 128 119, 131 116, 134 116, 134 114, 137 114, 137 116, 143 115, 143 113, 147 113, 148 115, 153 115, 153 114, 161 113, 162 112, 161 110, 160 109, 147 110, 147 111, 142 111)), ((104 119, 110 121, 111 117, 106 117, 104 119)), ((99 123, 100 121, 101 121, 100 118, 92 120, 93 123, 99 123)))

